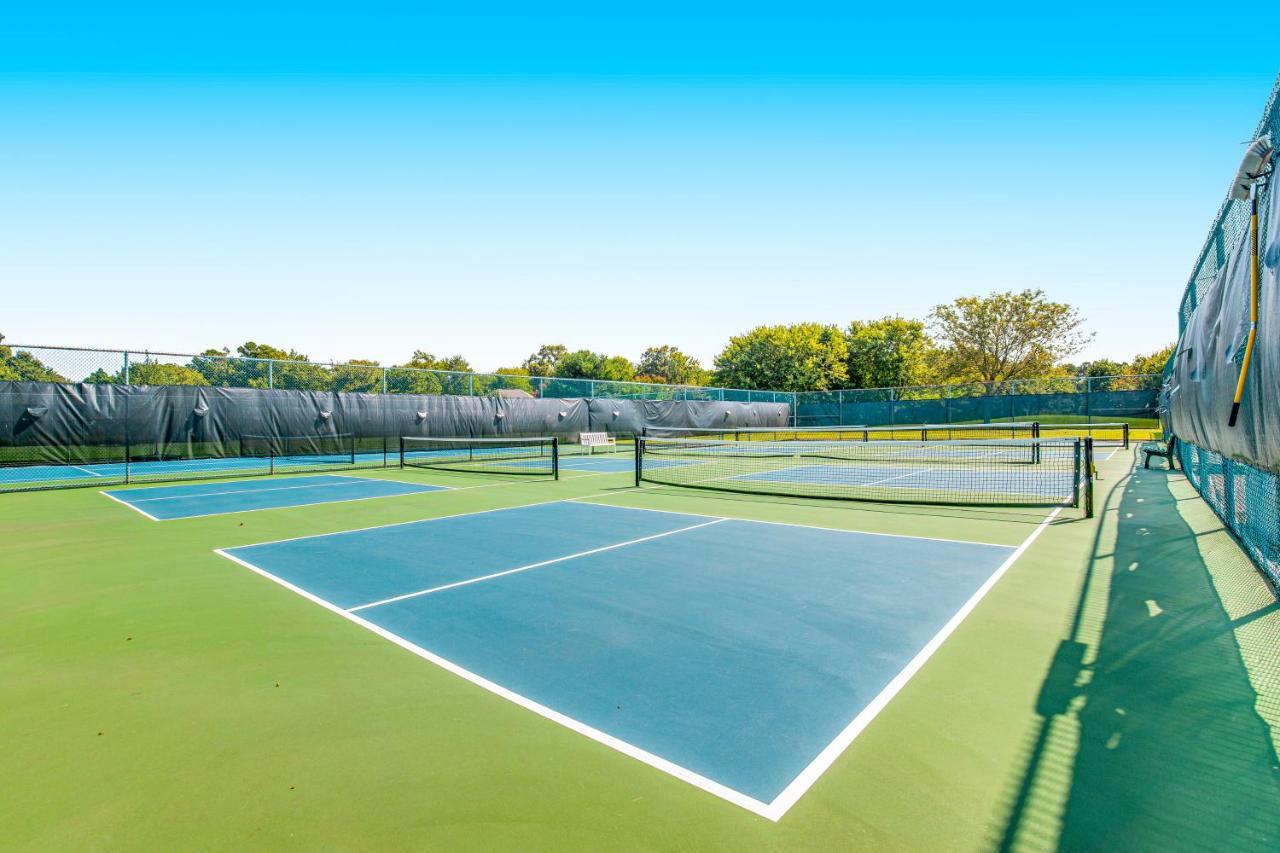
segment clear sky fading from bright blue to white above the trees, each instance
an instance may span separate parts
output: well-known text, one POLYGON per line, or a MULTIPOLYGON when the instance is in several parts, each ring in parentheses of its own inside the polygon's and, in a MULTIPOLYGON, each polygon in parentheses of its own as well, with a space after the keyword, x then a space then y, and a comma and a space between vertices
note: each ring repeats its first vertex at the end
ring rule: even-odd
POLYGON ((1277 70, 1203 4, 180 5, 6 10, 10 342, 709 365, 1039 287, 1128 359, 1277 70))

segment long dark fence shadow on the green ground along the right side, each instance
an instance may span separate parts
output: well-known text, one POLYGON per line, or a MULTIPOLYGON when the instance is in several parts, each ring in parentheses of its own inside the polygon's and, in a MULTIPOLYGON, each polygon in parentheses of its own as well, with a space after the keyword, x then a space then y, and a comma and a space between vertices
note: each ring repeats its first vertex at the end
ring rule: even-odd
POLYGON ((1107 500, 1115 551, 1100 525, 993 849, 1280 849, 1280 768, 1235 633, 1271 649, 1254 678, 1275 684, 1277 607, 1233 620, 1171 476, 1132 471, 1107 500))

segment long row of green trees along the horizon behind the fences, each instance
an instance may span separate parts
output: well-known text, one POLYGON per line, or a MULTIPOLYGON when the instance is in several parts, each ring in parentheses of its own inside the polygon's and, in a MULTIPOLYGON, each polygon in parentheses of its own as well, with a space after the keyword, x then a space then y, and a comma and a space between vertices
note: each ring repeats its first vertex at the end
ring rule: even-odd
MULTIPOLYGON (((154 360, 134 362, 128 382, 248 388, 302 388, 397 393, 486 393, 497 388, 534 391, 532 378, 548 396, 579 396, 543 387, 545 378, 723 386, 765 391, 835 391, 922 384, 1007 382, 1042 377, 1108 377, 1164 370, 1172 345, 1128 361, 1071 359, 1092 339, 1083 318, 1043 291, 964 296, 936 306, 924 319, 883 316, 845 327, 824 323, 759 325, 728 339, 710 369, 669 345, 646 348, 639 361, 590 350, 543 345, 520 365, 494 374, 471 374, 462 355, 436 357, 417 350, 385 371, 378 361, 353 359, 342 365, 310 364, 294 350, 246 342, 234 356, 210 348, 189 364, 154 360), (273 360, 270 368, 264 361, 273 360), (404 368, 404 370, 399 370, 404 368), (443 373, 421 373, 421 370, 443 373), (481 387, 476 387, 476 383, 481 387)), ((0 336, 0 342, 4 336, 0 336)), ((84 382, 124 382, 123 369, 99 369, 84 382)), ((67 382, 28 352, 0 343, 0 380, 67 382)), ((70 380, 76 380, 72 378, 70 380)))

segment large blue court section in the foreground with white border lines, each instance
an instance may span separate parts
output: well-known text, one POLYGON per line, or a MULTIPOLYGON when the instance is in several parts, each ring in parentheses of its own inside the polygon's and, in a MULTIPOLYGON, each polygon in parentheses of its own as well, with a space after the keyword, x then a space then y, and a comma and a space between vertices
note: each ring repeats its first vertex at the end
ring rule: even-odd
POLYGON ((1014 551, 556 502, 221 553, 777 820, 1014 551))

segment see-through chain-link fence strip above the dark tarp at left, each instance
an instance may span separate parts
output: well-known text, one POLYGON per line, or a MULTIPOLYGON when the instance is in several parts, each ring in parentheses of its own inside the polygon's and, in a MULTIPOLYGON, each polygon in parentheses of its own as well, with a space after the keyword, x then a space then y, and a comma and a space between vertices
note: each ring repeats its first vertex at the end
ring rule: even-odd
POLYGON ((210 386, 282 391, 364 392, 383 394, 453 394, 461 397, 529 394, 541 398, 704 400, 780 402, 794 394, 704 386, 646 382, 462 373, 369 362, 321 364, 230 355, 187 355, 145 350, 5 345, 12 355, 0 364, 0 380, 29 379, 128 386, 210 386))

